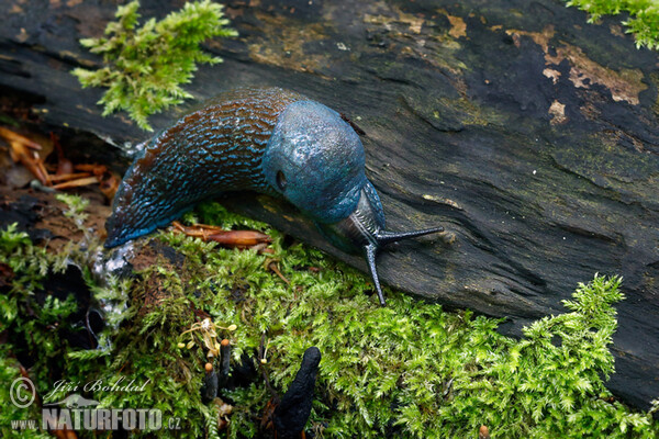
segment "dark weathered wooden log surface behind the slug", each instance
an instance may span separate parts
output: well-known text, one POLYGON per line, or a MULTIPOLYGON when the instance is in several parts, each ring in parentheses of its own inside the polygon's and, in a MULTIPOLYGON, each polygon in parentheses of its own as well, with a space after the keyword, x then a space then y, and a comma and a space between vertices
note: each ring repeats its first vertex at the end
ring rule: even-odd
MULTIPOLYGON (((164 16, 181 1, 143 1, 164 16)), ((578 282, 622 274, 611 389, 659 397, 659 57, 637 50, 617 19, 587 24, 560 1, 232 0, 241 36, 209 49, 199 99, 280 86, 346 114, 365 132, 367 173, 391 229, 442 224, 444 237, 383 251, 383 281, 448 307, 506 316, 503 330, 563 312, 578 282), (287 3, 282 5, 280 3, 287 3), (453 239, 455 238, 455 239, 453 239)), ((101 117, 100 90, 69 70, 99 59, 114 1, 4 1, 0 87, 57 127, 122 145, 148 135, 101 117)), ((152 119, 165 126, 183 110, 152 119)), ((87 155, 116 161, 120 148, 87 155)), ((338 258, 289 206, 226 200, 338 258), (287 217, 298 217, 288 212, 287 217)))

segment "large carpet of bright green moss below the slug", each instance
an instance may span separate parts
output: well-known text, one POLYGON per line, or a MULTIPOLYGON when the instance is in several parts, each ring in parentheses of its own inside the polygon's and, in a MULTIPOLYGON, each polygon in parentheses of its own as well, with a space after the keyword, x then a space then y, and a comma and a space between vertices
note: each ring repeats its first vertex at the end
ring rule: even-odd
MULTIPOLYGON (((395 291, 388 292, 388 306, 381 307, 362 273, 304 245, 287 246, 277 230, 216 203, 201 205, 186 221, 265 230, 273 237, 275 254, 223 249, 174 233, 156 235, 186 257, 183 267, 172 270, 160 260, 132 284, 97 286, 97 295, 116 301, 130 296, 125 318, 111 335, 111 354, 64 360, 68 379, 149 379, 153 384, 143 393, 86 396, 112 408, 160 408, 164 419, 182 419, 183 431, 158 436, 200 437, 216 429, 214 405, 204 405, 199 391, 208 350, 201 342, 191 349, 178 346, 188 341, 189 335, 181 333, 199 320, 200 312, 217 325, 237 325, 221 334, 232 341, 234 363, 255 361, 265 334, 265 370, 280 393, 294 378, 304 350, 320 348, 323 359, 308 428, 325 438, 465 438, 477 437, 481 425, 493 438, 659 434, 650 413, 629 409, 604 386, 614 373, 610 347, 616 329, 612 305, 623 299, 618 278, 595 275, 579 285, 565 302, 566 314, 534 323, 516 340, 495 331, 500 320, 469 311, 447 313, 395 291), (271 260, 290 285, 267 269, 271 260)), ((36 251, 15 233, 3 239, 0 249, 10 260, 36 251)), ((25 270, 34 273, 34 268, 25 270)), ((8 345, 11 339, 1 348, 8 345)), ((38 368, 33 368, 37 375, 38 368)), ((15 364, 5 363, 3 373, 9 376, 10 370, 18 374, 15 364)), ((48 387, 46 376, 40 385, 48 387)), ((221 392, 234 412, 220 437, 253 437, 272 396, 260 374, 246 387, 221 392)), ((0 423, 5 419, 0 414, 0 423)))

